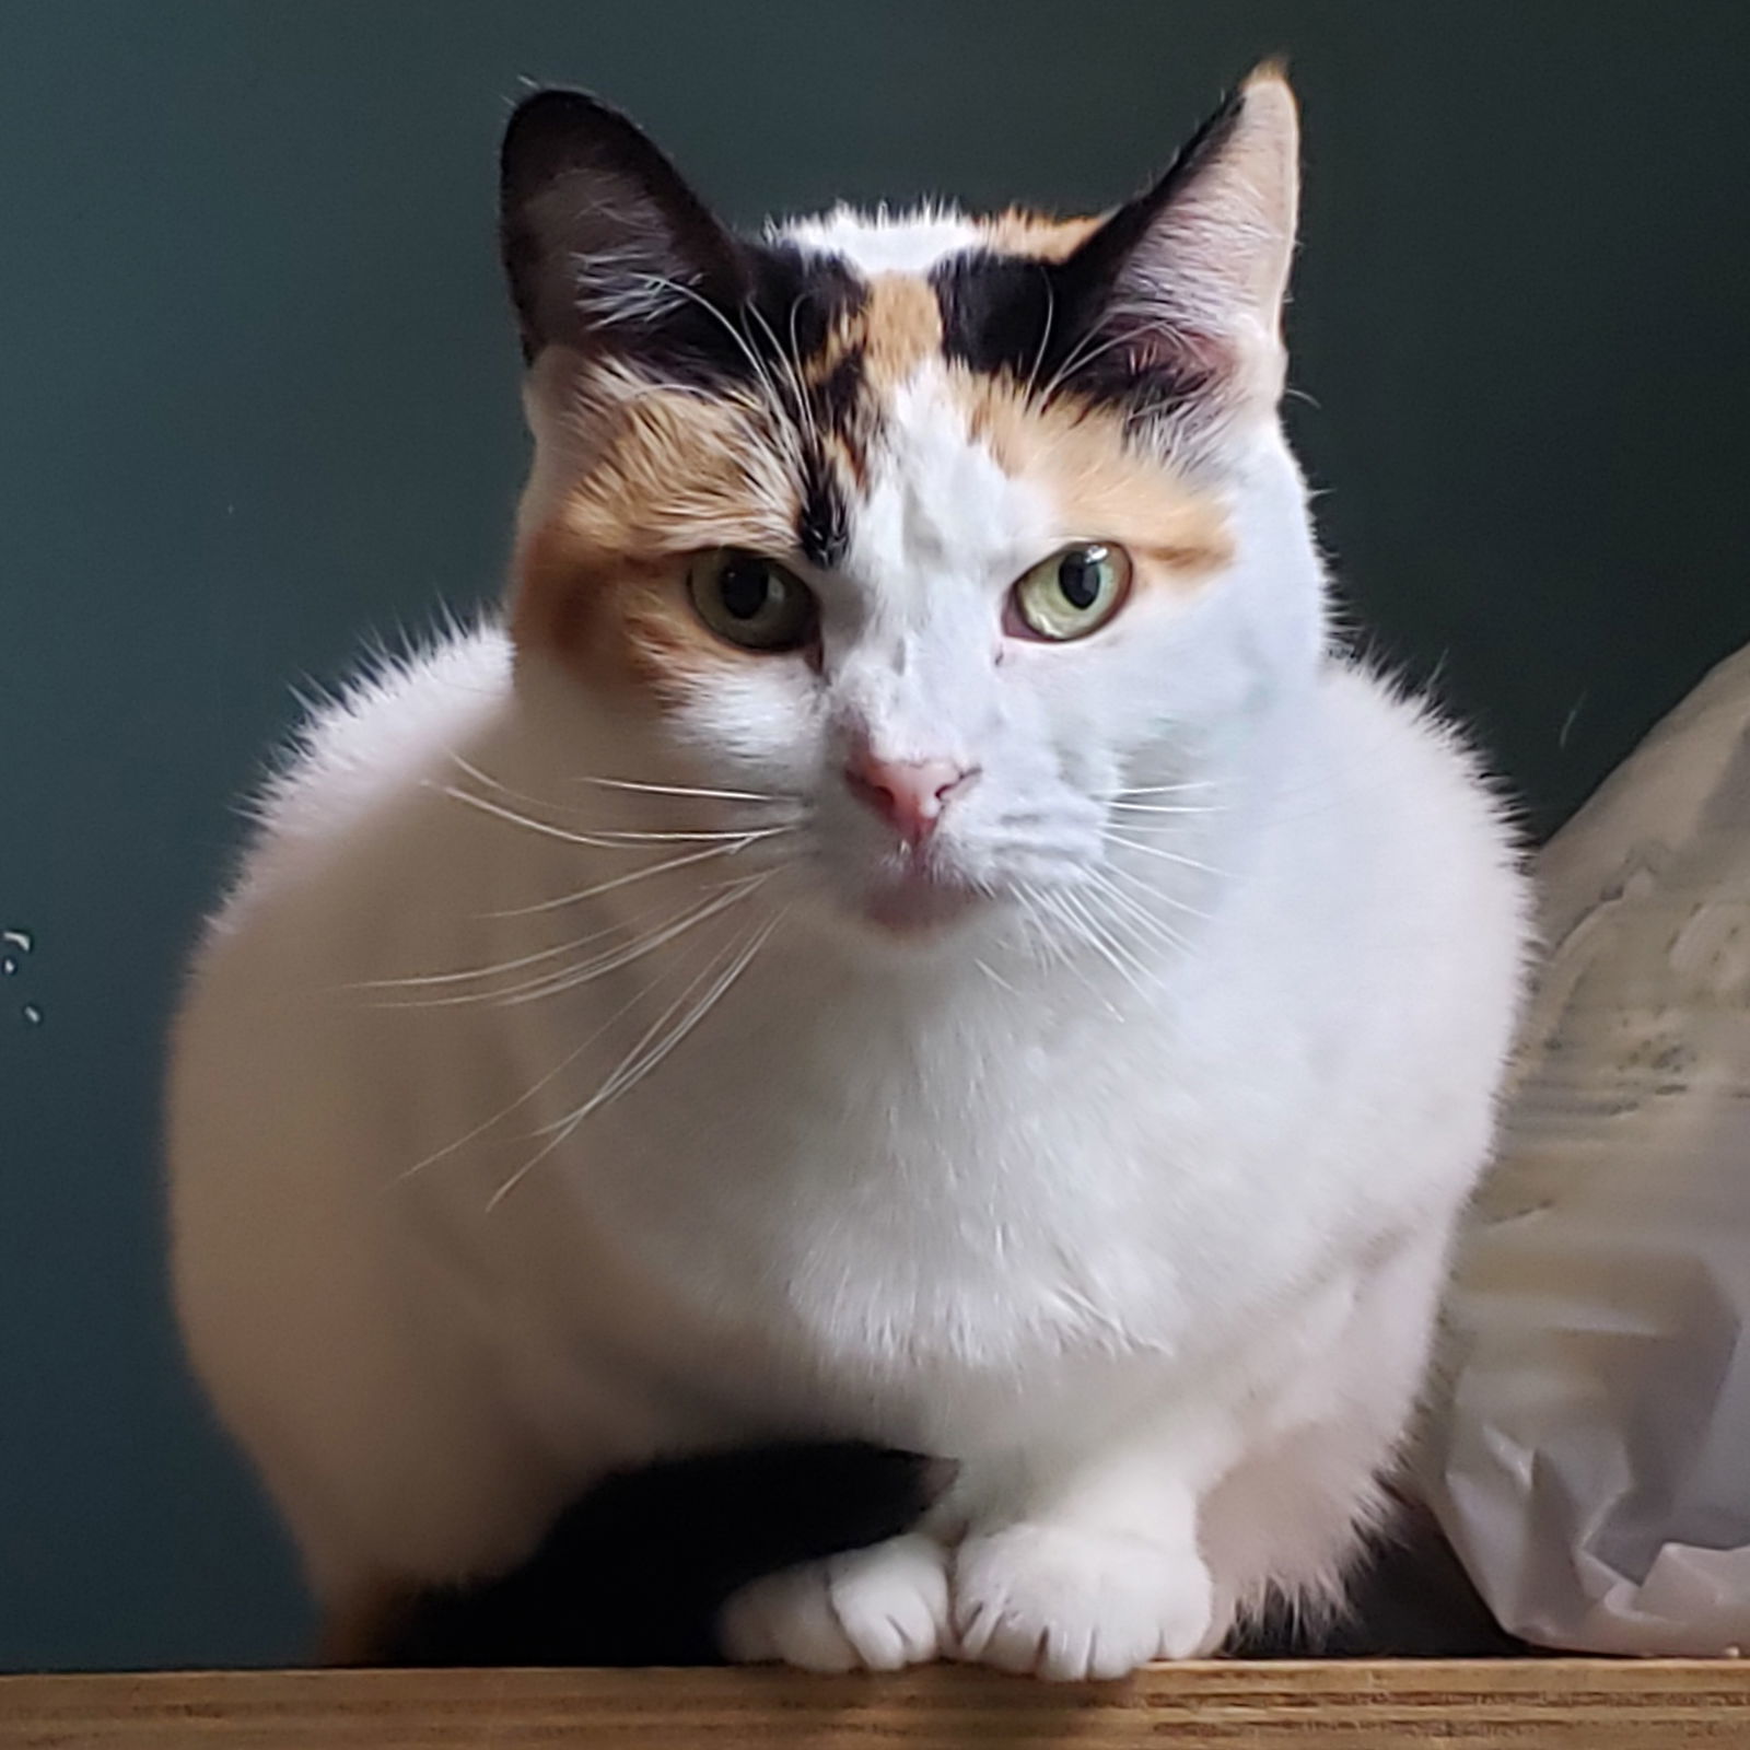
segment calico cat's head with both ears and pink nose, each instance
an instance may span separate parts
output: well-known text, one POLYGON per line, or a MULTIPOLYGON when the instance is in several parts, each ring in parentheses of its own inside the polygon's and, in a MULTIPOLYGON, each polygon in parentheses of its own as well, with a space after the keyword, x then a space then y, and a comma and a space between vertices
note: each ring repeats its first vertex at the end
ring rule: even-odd
POLYGON ((1276 411, 1295 198, 1274 68, 1101 217, 758 240, 606 105, 522 103, 511 626, 609 714, 579 766, 784 798, 812 896, 889 928, 1171 844, 1172 786, 1320 648, 1276 411))

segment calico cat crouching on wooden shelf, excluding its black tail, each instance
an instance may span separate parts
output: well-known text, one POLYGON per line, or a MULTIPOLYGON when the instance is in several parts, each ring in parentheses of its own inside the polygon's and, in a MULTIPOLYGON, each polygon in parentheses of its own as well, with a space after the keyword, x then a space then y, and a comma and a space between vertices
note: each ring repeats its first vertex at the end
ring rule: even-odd
POLYGON ((1332 639, 1260 68, 1110 214, 726 229, 528 96, 508 609, 317 710, 173 1031, 189 1354, 336 1617, 588 1484, 957 1465, 740 1661, 1108 1678, 1381 1514, 1524 961, 1332 639))

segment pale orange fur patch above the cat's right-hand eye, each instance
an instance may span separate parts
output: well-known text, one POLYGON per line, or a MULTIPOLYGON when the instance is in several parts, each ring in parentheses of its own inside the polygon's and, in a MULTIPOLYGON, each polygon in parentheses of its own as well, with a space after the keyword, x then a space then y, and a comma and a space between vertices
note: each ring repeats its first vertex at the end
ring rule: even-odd
POLYGON ((1115 541, 1139 583, 1195 588, 1234 560, 1220 500, 1136 444, 1124 415, 1074 402, 1029 404, 1015 385, 954 371, 973 436, 1004 472, 1050 495, 1064 537, 1115 541))

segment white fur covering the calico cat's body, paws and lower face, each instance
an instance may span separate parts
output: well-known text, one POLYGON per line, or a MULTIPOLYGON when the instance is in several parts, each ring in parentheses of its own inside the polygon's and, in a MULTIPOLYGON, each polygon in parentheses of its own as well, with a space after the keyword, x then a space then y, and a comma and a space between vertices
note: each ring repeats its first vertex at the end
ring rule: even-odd
POLYGON ((1115 1675, 1328 1596, 1372 1512, 1514 1012, 1496 808, 1326 654, 1274 420, 1228 457, 1232 569, 1062 648, 1004 646, 1001 598, 1099 530, 928 369, 889 430, 819 672, 651 719, 486 626, 322 712, 268 798, 177 1027, 175 1274, 329 1601, 502 1566, 611 1465, 863 1433, 957 1458, 950 1502, 751 1589, 738 1654, 1115 1675), (917 942, 870 922, 901 877, 852 737, 982 768, 938 840, 989 898, 917 942))

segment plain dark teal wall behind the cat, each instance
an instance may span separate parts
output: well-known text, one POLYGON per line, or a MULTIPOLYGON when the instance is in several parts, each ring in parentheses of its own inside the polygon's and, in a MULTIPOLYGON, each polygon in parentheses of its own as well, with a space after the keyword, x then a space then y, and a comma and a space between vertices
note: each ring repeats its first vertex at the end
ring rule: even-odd
POLYGON ((1074 206, 1278 49, 1344 593, 1554 822, 1750 637, 1750 9, 0 0, 0 1668, 299 1647, 177 1368, 159 1031, 290 686, 494 588, 520 82, 742 217, 1074 206))

